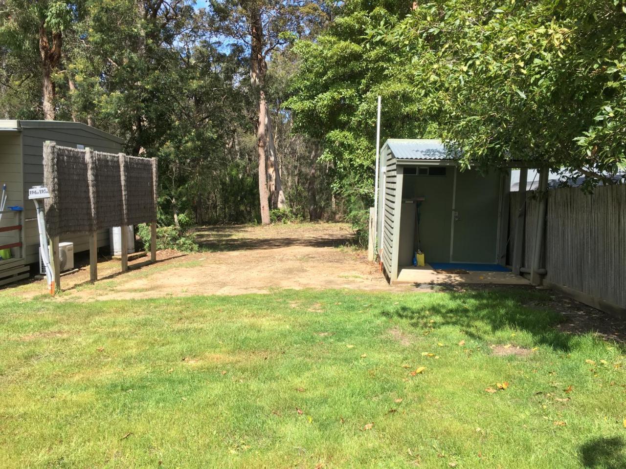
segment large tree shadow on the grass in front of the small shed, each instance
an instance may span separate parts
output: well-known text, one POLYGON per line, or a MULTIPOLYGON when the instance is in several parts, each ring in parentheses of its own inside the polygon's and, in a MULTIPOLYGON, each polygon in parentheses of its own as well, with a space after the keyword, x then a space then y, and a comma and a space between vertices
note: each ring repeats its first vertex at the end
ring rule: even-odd
POLYGON ((449 301, 426 302, 419 306, 388 306, 382 311, 387 318, 399 318, 421 330, 455 326, 476 340, 493 340, 500 330, 512 328, 529 332, 538 345, 569 351, 572 335, 555 329, 563 320, 556 311, 528 308, 522 303, 541 293, 526 289, 468 290, 445 293, 449 301), (431 323, 433 317, 437 317, 431 323))

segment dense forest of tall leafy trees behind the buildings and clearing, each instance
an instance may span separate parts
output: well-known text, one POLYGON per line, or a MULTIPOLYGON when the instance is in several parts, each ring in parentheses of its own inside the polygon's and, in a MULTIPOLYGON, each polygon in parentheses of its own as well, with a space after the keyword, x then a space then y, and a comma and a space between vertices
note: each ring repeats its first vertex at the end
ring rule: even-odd
POLYGON ((0 117, 156 156, 160 223, 348 217, 382 139, 626 169, 621 0, 2 0, 0 117))

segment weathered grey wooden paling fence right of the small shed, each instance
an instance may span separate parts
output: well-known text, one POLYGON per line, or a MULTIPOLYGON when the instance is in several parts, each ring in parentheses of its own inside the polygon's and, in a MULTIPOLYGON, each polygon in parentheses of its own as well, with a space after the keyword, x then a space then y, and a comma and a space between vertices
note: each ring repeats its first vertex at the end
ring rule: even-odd
MULTIPOLYGON (((519 194, 511 193, 509 233, 515 233, 519 194)), ((522 265, 531 267, 539 200, 526 195, 522 265)), ((513 236, 508 242, 512 258, 513 236)), ((626 308, 626 185, 548 192, 545 251, 546 285, 582 293, 596 307, 626 308)), ((605 308, 603 308, 605 309, 605 308)), ((613 308, 614 309, 614 308, 613 308)))

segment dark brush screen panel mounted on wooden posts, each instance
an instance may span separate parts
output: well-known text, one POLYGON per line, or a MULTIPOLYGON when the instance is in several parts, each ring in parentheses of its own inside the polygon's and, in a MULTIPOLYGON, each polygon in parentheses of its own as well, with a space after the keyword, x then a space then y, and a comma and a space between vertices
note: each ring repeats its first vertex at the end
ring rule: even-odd
POLYGON ((156 221, 156 159, 44 143, 50 236, 156 221))

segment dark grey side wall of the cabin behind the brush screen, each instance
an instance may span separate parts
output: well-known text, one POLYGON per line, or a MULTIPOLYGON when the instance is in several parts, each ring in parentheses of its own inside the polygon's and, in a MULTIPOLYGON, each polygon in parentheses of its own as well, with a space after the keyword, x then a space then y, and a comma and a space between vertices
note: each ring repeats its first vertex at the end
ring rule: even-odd
MULTIPOLYGON (((91 132, 83 126, 59 126, 55 128, 22 128, 22 146, 24 159, 24 204, 26 204, 26 218, 35 218, 36 212, 34 204, 28 201, 28 189, 32 186, 43 184, 43 143, 46 140, 54 141, 61 146, 76 148, 81 144, 98 151, 107 153, 120 153, 121 144, 105 138, 100 133, 91 132)), ((89 237, 68 235, 61 236, 61 242, 71 241, 74 243, 74 252, 89 250, 89 237)), ((108 246, 108 230, 98 231, 98 247, 108 246)), ((32 220, 26 223, 26 263, 36 263, 39 261, 38 254, 39 235, 37 221, 32 220)))

